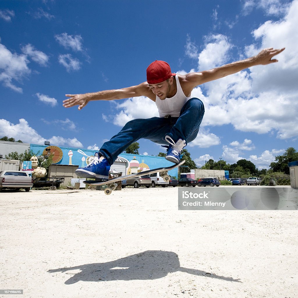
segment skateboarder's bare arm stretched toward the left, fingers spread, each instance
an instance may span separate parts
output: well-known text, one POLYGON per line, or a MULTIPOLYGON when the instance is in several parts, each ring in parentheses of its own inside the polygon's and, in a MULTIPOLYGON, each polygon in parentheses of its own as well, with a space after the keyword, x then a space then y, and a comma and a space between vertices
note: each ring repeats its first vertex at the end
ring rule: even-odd
POLYGON ((104 90, 85 94, 65 94, 65 96, 69 98, 63 100, 63 106, 65 108, 70 108, 74 105, 78 105, 78 110, 81 110, 91 100, 114 100, 138 97, 142 95, 149 98, 153 95, 153 92, 150 90, 147 82, 122 89, 104 90))

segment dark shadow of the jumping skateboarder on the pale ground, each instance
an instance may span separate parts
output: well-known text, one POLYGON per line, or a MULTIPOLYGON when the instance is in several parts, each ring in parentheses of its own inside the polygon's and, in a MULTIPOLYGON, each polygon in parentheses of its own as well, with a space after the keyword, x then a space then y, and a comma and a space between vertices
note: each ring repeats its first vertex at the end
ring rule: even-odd
POLYGON ((49 273, 80 270, 72 275, 65 284, 78 281, 110 281, 110 280, 151 280, 167 276, 168 273, 180 271, 198 276, 206 276, 226 281, 240 282, 232 277, 219 276, 198 269, 180 267, 178 255, 174 252, 147 250, 138 254, 123 257, 106 263, 91 263, 67 268, 48 270, 49 273))

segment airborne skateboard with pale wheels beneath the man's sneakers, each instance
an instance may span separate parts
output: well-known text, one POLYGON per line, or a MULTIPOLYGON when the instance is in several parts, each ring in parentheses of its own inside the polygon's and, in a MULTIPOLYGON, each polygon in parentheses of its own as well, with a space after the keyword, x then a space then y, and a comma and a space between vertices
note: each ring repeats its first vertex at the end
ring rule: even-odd
POLYGON ((182 164, 184 164, 184 162, 185 162, 185 160, 182 160, 179 164, 173 164, 170 167, 161 167, 161 168, 157 168, 157 169, 153 169, 153 170, 147 170, 147 171, 143 171, 143 172, 139 172, 139 173, 120 176, 120 177, 116 177, 116 178, 112 178, 112 179, 108 179, 108 180, 86 180, 86 181, 83 181, 83 183, 88 184, 88 185, 96 185, 96 186, 97 185, 107 185, 108 187, 105 189, 105 194, 110 195, 112 193, 112 191, 115 190, 117 187, 116 182, 119 182, 124 179, 130 179, 130 178, 150 175, 150 174, 159 172, 160 176, 164 179, 164 181, 169 182, 170 176, 168 175, 167 171, 173 170, 176 167, 180 167, 182 164))

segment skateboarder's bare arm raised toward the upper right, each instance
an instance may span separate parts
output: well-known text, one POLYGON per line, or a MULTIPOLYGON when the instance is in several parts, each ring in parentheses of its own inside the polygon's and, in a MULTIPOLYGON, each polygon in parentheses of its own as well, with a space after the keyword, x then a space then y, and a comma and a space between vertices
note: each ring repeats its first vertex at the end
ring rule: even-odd
POLYGON ((216 67, 213 69, 205 70, 202 72, 194 72, 186 75, 186 85, 189 88, 194 88, 198 85, 232 75, 236 72, 240 72, 243 69, 254 65, 266 65, 270 63, 278 62, 277 59, 272 59, 275 55, 282 52, 283 49, 267 48, 263 49, 256 56, 232 62, 224 66, 216 67))

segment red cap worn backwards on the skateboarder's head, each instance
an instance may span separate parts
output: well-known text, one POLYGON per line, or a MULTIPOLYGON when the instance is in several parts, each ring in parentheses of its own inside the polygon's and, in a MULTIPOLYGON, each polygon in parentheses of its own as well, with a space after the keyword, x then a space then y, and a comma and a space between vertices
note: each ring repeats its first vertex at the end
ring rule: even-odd
POLYGON ((147 68, 147 83, 158 84, 175 75, 167 62, 155 60, 147 68))

